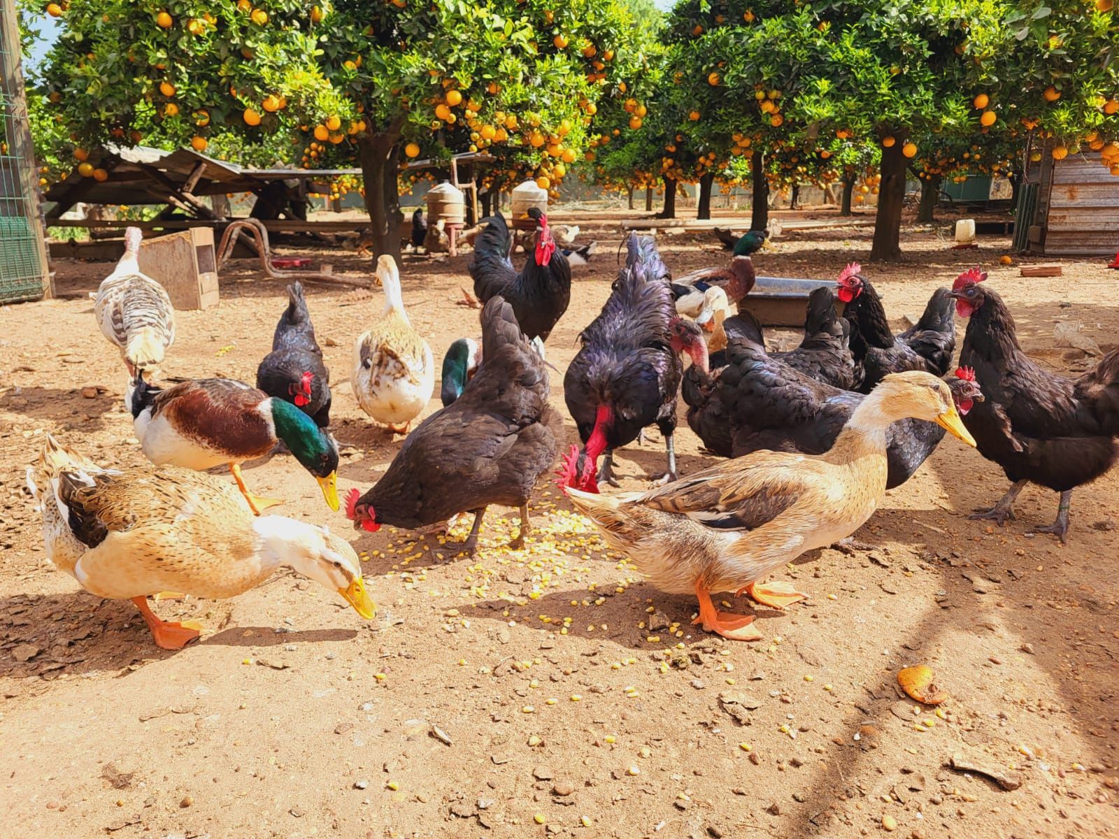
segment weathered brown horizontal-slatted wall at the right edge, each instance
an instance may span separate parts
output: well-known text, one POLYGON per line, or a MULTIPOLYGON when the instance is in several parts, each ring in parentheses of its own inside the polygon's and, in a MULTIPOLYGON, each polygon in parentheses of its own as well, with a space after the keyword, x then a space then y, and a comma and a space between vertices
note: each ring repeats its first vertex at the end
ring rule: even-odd
POLYGON ((1049 185, 1044 253, 1111 256, 1119 251, 1119 178, 1099 160, 1057 161, 1049 185))

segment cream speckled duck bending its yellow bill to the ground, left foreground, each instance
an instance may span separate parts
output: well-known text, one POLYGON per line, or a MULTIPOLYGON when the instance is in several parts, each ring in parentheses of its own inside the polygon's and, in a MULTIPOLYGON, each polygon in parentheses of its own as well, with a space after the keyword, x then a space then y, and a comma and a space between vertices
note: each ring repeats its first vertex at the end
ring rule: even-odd
POLYGON ((148 595, 233 597, 281 566, 337 591, 363 618, 374 615, 361 565, 345 539, 284 516, 255 518, 211 475, 167 465, 102 469, 48 434, 27 482, 51 563, 87 592, 131 600, 164 649, 182 648, 200 626, 161 621, 148 595))

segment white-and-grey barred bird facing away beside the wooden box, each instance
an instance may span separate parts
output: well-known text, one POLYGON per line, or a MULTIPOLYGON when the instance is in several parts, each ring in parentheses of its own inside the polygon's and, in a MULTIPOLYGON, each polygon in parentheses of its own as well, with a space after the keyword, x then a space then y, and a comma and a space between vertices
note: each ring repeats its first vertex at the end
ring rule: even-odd
POLYGON ((175 309, 163 286, 140 271, 142 239, 139 227, 124 232, 124 255, 90 296, 97 326, 120 348, 129 377, 142 373, 150 379, 175 341, 175 309))

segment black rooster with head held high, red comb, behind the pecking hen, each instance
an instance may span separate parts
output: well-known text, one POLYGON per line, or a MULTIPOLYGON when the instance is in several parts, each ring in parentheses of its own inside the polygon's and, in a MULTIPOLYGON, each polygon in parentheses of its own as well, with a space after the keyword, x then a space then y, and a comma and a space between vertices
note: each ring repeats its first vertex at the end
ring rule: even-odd
POLYGON ((571 302, 571 265, 556 248, 547 216, 536 207, 528 215, 537 224, 536 248, 519 274, 509 260, 513 237, 500 213, 482 219, 468 271, 481 303, 501 295, 513 307, 525 337, 546 341, 571 302))

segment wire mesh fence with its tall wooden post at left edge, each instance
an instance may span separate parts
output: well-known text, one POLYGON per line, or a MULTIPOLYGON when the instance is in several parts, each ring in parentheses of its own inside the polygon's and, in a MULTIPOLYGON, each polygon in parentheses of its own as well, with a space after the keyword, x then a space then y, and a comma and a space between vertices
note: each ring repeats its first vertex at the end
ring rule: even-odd
POLYGON ((0 303, 39 300, 47 280, 15 13, 0 0, 0 303))

